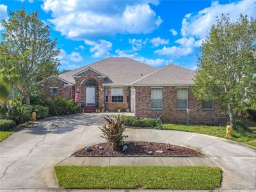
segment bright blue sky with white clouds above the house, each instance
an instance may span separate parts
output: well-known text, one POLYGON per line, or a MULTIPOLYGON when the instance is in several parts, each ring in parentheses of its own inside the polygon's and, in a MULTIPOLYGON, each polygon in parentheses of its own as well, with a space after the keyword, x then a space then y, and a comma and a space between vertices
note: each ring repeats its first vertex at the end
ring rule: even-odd
MULTIPOLYGON (((154 67, 175 63, 196 69, 199 47, 221 13, 256 17, 256 1, 0 1, 10 11, 37 11, 61 49, 60 70, 109 56, 127 56, 154 67)), ((3 27, 0 26, 0 32, 3 27)))

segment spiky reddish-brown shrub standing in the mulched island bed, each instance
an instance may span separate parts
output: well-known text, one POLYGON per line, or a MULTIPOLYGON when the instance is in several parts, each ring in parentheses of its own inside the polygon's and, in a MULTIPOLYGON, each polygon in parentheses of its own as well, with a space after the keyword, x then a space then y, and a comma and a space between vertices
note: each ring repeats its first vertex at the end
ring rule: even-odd
POLYGON ((120 120, 120 116, 112 118, 109 115, 103 116, 104 125, 99 127, 103 132, 102 138, 106 139, 112 146, 113 150, 120 150, 120 147, 124 143, 125 136, 123 133, 125 131, 124 122, 120 120))

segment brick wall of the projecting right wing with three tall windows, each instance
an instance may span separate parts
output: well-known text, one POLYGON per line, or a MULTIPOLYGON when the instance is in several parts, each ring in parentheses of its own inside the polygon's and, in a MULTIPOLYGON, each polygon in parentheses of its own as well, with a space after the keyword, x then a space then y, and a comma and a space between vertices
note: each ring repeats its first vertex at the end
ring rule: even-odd
MULTIPOLYGON (((156 118, 163 114, 161 118, 163 122, 173 124, 187 123, 186 109, 177 109, 177 87, 163 86, 163 110, 150 109, 151 89, 150 86, 135 87, 136 116, 139 118, 156 118)), ((202 109, 202 101, 196 100, 189 88, 188 90, 188 107, 191 109, 189 111, 189 122, 191 124, 219 125, 227 122, 227 116, 220 114, 217 104, 214 104, 214 109, 202 109)))

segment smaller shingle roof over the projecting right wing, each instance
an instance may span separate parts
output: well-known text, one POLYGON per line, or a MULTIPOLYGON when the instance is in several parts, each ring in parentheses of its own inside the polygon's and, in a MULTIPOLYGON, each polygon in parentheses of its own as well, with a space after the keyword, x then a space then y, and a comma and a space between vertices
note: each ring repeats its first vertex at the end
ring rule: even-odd
POLYGON ((134 85, 193 85, 196 72, 178 65, 167 65, 132 82, 134 85))

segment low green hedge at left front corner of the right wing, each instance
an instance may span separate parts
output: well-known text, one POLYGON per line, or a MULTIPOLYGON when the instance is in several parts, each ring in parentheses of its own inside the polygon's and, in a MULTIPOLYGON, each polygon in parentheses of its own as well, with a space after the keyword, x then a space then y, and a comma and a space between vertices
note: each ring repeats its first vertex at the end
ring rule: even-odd
MULTIPOLYGON (((116 118, 116 115, 114 115, 116 118)), ((129 127, 152 127, 161 129, 161 123, 154 118, 139 119, 135 116, 122 115, 120 116, 125 126, 129 127)))

